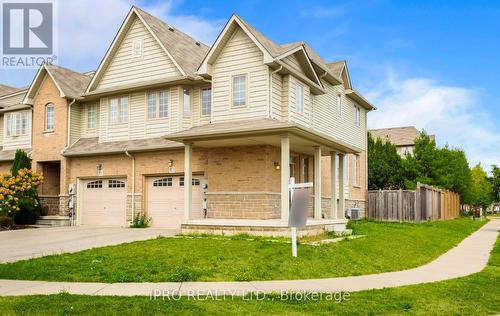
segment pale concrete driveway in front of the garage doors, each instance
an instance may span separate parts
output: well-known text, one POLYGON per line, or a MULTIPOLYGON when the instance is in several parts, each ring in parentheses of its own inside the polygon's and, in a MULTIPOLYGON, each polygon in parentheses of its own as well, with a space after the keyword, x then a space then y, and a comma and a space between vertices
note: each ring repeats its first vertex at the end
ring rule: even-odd
POLYGON ((0 263, 126 242, 174 236, 175 229, 120 227, 53 227, 0 232, 0 263))

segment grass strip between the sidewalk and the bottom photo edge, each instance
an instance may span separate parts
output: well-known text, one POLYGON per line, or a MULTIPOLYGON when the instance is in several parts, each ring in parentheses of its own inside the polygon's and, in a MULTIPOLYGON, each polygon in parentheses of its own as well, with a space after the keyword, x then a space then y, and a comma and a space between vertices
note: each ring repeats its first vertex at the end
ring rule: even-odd
POLYGON ((500 239, 480 273, 442 282, 351 293, 348 300, 156 300, 77 295, 0 297, 0 315, 492 315, 500 313, 500 239))

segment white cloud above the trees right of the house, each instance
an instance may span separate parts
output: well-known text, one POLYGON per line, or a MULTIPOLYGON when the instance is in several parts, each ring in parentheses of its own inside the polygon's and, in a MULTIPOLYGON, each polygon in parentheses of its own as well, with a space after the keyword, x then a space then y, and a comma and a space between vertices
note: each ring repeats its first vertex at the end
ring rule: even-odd
POLYGON ((439 145, 463 149, 471 165, 500 164, 500 131, 481 110, 480 91, 440 84, 429 78, 386 78, 365 93, 378 107, 370 128, 413 125, 436 134, 439 145))

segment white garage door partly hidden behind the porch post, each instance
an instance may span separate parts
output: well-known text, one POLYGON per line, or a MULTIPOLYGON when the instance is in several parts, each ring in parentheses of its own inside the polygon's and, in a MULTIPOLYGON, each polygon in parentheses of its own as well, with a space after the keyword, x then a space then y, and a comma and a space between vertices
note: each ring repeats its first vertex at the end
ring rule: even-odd
MULTIPOLYGON (((203 218, 202 179, 193 177, 192 218, 203 218)), ((184 177, 148 178, 147 212, 151 226, 180 228, 184 214, 184 177)))

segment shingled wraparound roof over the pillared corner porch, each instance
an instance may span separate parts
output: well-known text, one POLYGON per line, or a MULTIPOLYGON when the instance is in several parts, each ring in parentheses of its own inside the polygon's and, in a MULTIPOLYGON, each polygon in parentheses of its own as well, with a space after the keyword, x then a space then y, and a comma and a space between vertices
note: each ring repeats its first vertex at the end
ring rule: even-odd
POLYGON ((310 128, 293 122, 280 122, 268 118, 210 123, 173 133, 165 138, 175 142, 194 143, 199 147, 245 145, 245 141, 253 144, 263 143, 279 146, 279 137, 277 136, 286 134, 293 136, 292 144, 295 139, 303 144, 308 142, 325 147, 326 152, 328 150, 342 153, 361 152, 360 148, 310 128), (231 142, 231 140, 233 141, 231 142))

